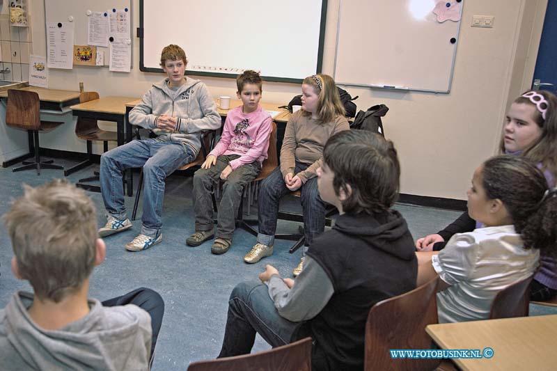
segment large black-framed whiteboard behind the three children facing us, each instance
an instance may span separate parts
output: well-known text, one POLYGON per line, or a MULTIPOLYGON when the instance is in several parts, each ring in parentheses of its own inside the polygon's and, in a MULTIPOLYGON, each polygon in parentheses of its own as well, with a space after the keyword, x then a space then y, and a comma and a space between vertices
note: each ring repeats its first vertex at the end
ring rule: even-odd
POLYGON ((162 72, 163 47, 180 45, 187 74, 301 82, 321 72, 327 0, 139 1, 140 70, 162 72))

